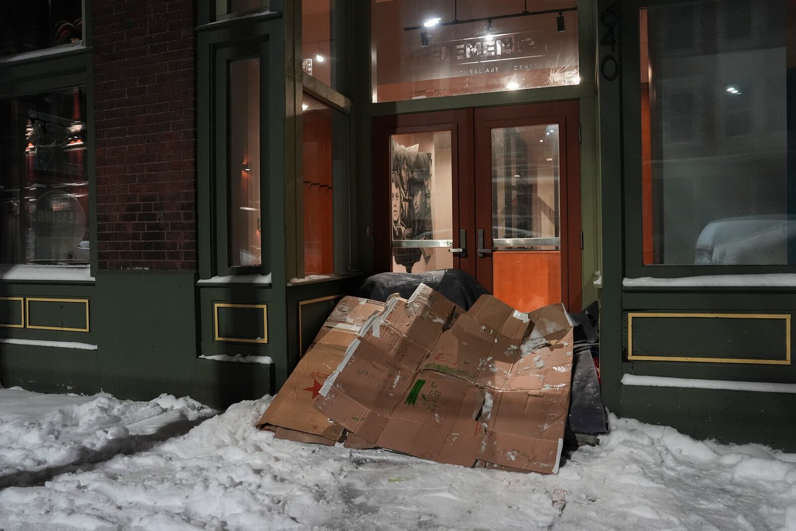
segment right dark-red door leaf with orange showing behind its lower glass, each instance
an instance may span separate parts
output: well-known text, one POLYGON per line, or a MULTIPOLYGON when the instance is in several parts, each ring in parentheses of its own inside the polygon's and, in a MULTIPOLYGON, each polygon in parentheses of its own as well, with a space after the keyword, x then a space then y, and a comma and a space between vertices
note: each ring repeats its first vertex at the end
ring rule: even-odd
POLYGON ((528 311, 580 306, 577 102, 475 111, 477 278, 528 311))

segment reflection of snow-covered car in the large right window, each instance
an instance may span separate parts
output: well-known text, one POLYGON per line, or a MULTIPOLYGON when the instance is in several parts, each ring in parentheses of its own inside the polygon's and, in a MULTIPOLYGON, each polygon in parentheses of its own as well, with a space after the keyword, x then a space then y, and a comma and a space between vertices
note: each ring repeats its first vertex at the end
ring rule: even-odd
POLYGON ((702 229, 696 239, 694 264, 787 264, 790 245, 796 245, 796 217, 728 217, 702 229))

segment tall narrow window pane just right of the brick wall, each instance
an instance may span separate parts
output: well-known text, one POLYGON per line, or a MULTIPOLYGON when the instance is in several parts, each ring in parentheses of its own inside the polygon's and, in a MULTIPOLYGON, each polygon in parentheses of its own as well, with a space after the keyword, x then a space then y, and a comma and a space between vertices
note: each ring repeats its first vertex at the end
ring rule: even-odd
POLYGON ((263 263, 260 243, 259 58, 229 63, 231 266, 263 263))

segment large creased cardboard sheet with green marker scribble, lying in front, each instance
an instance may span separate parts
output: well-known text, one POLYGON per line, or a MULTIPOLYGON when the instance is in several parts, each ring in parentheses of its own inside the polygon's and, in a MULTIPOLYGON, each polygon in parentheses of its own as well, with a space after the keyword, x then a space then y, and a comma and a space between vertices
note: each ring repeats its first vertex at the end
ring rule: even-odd
POLYGON ((421 285, 365 323, 314 406, 378 447, 440 463, 555 473, 572 372, 561 305, 466 313, 421 285))

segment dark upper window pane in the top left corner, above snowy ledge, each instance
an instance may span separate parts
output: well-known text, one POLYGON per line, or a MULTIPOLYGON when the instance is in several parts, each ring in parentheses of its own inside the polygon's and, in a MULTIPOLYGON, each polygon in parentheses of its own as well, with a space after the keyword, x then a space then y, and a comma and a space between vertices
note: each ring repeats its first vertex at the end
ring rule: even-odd
POLYGON ((82 0, 6 0, 0 16, 0 56, 83 40, 82 0))

